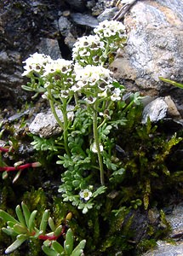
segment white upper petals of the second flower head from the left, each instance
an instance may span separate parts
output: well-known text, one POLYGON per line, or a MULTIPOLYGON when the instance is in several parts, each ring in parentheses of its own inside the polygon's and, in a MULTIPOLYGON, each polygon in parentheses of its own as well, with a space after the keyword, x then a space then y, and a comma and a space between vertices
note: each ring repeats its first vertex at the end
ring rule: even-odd
POLYGON ((47 76, 50 73, 60 72, 62 74, 70 73, 72 69, 72 61, 65 59, 51 60, 44 67, 43 76, 47 76))

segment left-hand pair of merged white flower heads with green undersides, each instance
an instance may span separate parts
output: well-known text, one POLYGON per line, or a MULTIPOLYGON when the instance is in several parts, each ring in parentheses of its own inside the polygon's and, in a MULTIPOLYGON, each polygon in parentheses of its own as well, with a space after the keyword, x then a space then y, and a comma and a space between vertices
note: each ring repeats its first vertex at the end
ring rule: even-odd
MULTIPOLYGON (((65 59, 52 60, 49 55, 35 53, 24 61, 26 69, 22 76, 36 76, 43 81, 43 87, 49 87, 54 97, 67 98, 70 96, 69 88, 74 84, 72 61, 65 59), (38 75, 38 76, 37 76, 38 75)), ((48 91, 42 95, 48 98, 48 91)))

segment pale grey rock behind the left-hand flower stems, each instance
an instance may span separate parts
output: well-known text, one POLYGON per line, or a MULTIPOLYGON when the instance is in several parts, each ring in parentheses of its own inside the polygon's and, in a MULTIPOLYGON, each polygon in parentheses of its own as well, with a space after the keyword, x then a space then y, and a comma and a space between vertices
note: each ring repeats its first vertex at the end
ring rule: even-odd
MULTIPOLYGON (((68 106, 67 109, 68 118, 73 118, 73 106, 68 106)), ((61 121, 63 121, 63 115, 60 109, 56 109, 56 113, 58 114, 61 121)), ((47 113, 37 113, 35 119, 29 125, 29 131, 32 134, 38 135, 40 137, 50 137, 56 134, 59 134, 62 130, 60 125, 58 125, 56 119, 54 119, 54 114, 49 111, 47 113)))

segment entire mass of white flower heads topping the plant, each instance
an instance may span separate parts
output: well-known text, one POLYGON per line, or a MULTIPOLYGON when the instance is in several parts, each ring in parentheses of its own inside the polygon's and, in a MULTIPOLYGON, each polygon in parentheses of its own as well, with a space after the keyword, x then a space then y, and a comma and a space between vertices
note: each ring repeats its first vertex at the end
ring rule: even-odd
POLYGON ((120 100, 120 90, 112 85, 112 73, 103 65, 109 52, 118 47, 117 40, 124 38, 125 27, 119 21, 105 20, 94 32, 95 35, 77 39, 72 50, 73 61, 52 60, 49 55, 35 53, 24 61, 26 65, 22 75, 36 81, 40 79, 35 84, 38 89, 47 90, 43 97, 48 97, 49 90, 57 98, 83 93, 89 104, 93 104, 97 97, 111 96, 112 101, 120 100))

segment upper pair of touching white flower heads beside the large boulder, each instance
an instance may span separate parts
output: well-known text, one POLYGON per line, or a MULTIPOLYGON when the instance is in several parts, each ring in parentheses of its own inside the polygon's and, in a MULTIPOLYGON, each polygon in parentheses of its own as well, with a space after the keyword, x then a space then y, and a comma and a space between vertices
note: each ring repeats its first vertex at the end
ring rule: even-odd
POLYGON ((94 29, 95 35, 78 38, 72 59, 84 65, 104 64, 109 52, 123 47, 126 42, 125 26, 117 20, 104 20, 94 29))

